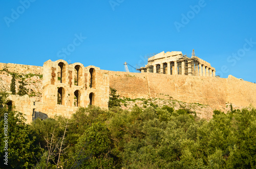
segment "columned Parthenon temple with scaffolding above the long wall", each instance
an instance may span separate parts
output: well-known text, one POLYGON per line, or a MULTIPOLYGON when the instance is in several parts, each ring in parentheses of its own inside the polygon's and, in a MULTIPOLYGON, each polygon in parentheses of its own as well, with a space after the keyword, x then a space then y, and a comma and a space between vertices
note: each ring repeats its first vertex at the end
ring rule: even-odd
POLYGON ((188 75, 215 77, 216 70, 210 63, 195 56, 193 50, 191 58, 181 52, 161 52, 148 58, 145 67, 140 67, 141 73, 157 73, 167 75, 188 75))

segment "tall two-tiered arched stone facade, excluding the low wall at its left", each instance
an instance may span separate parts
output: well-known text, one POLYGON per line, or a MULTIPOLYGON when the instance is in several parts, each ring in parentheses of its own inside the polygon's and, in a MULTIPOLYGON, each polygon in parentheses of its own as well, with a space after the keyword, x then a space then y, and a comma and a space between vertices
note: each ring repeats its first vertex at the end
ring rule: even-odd
POLYGON ((108 74, 99 67, 48 60, 43 66, 42 102, 63 106, 108 108, 108 74))

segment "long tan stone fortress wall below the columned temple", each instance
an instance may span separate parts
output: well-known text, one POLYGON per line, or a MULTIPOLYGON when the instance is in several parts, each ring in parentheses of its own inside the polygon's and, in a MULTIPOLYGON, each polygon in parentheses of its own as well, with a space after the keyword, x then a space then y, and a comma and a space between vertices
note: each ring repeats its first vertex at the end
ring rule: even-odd
POLYGON ((219 109, 232 103, 256 107, 256 84, 237 78, 196 77, 109 71, 110 87, 127 98, 162 98, 219 109))

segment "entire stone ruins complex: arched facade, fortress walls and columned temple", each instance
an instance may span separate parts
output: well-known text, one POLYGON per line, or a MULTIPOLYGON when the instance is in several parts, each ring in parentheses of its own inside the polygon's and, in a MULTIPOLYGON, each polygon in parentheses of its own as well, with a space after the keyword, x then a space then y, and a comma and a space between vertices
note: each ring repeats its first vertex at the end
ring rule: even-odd
MULTIPOLYGON (((233 76, 216 78, 215 68, 196 56, 187 58, 181 52, 162 52, 149 58, 148 64, 139 70, 141 73, 101 70, 81 63, 68 64, 65 60, 48 60, 43 66, 0 63, 0 77, 4 71, 42 75, 42 80, 37 78, 35 82, 40 83, 40 100, 28 95, 9 96, 10 104, 26 115, 28 123, 36 118, 67 116, 88 105, 108 109, 110 87, 117 89, 121 97, 131 99, 178 100, 213 109, 228 103, 256 107, 256 84, 233 76)), ((2 89, 10 89, 9 82, 2 78, 0 82, 2 89)))

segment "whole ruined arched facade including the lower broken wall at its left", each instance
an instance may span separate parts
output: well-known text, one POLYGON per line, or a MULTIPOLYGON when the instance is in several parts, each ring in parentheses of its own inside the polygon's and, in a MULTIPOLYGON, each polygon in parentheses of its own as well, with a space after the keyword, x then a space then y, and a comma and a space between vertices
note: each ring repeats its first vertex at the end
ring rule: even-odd
POLYGON ((28 95, 10 95, 12 105, 26 115, 28 122, 55 115, 70 116, 88 105, 108 109, 109 75, 99 67, 48 60, 42 67, 42 101, 28 95))

